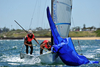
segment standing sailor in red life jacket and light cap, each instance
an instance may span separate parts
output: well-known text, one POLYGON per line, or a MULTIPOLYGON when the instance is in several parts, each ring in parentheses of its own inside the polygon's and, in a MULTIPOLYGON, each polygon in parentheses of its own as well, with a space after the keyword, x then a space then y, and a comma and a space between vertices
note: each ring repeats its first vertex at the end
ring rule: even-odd
POLYGON ((32 42, 31 42, 33 39, 39 44, 39 42, 36 40, 32 31, 29 30, 28 34, 27 34, 27 36, 25 37, 25 40, 24 40, 24 44, 26 46, 26 54, 28 54, 28 46, 30 46, 30 49, 31 49, 30 54, 33 53, 33 46, 32 46, 32 42))

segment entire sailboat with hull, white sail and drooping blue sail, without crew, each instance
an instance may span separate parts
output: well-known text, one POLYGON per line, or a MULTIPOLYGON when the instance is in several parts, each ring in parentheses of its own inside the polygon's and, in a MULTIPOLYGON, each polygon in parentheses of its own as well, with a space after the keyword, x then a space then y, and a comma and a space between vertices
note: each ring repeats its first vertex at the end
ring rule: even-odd
MULTIPOLYGON (((42 63, 64 63, 69 66, 79 66, 87 63, 99 63, 89 61, 85 56, 78 55, 73 46, 72 40, 68 37, 71 25, 72 0, 52 0, 53 19, 47 7, 47 18, 51 28, 53 42, 51 52, 37 56, 42 63), (48 60, 46 60, 46 58, 48 60)), ((21 53, 20 58, 33 58, 33 55, 21 53)))

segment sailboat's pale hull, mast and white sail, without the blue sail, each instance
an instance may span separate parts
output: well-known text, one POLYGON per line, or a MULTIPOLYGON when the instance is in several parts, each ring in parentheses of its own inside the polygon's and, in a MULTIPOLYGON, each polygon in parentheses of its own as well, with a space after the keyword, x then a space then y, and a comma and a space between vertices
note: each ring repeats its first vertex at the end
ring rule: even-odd
MULTIPOLYGON (((69 28, 71 24, 71 9, 72 9, 72 0, 51 0, 52 17, 55 22, 55 25, 57 26, 58 32, 63 38, 68 37, 69 28), (61 12, 62 10, 63 12, 61 12), (62 34, 64 31, 65 33, 62 34)), ((51 42, 53 45, 53 40, 51 40, 51 42)), ((20 54, 21 59, 33 58, 33 57, 34 57, 33 55, 26 55, 23 53, 20 54)), ((37 56, 37 57, 39 57, 42 60, 41 61, 42 63, 46 63, 46 64, 63 63, 57 53, 46 52, 45 54, 37 56), (48 58, 48 60, 45 60, 45 58, 48 58)))

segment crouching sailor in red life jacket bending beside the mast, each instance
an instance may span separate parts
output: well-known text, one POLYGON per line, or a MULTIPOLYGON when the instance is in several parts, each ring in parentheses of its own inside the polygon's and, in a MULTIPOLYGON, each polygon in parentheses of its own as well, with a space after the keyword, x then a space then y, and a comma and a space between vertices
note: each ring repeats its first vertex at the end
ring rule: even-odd
POLYGON ((44 47, 50 51, 50 50, 51 50, 50 41, 44 40, 44 41, 40 44, 40 54, 43 53, 43 49, 44 49, 45 51, 47 51, 44 47))

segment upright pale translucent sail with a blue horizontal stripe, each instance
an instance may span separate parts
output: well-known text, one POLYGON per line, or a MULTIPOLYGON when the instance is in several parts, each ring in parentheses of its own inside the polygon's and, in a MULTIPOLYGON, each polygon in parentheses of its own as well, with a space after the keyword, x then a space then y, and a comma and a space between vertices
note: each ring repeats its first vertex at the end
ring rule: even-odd
POLYGON ((53 21, 62 38, 68 37, 71 25, 72 0, 53 1, 53 21))

